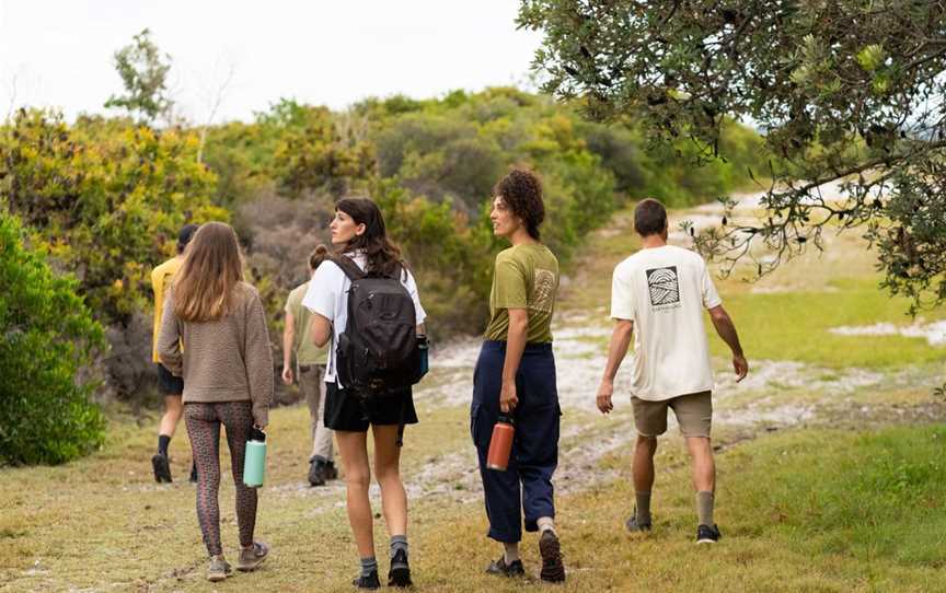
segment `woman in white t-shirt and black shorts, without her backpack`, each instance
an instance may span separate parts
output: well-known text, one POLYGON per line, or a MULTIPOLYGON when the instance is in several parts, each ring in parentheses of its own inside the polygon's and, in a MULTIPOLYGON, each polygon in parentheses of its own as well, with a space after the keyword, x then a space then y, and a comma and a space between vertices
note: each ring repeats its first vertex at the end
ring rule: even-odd
POLYGON ((420 306, 414 277, 402 260, 401 252, 388 239, 384 219, 373 201, 361 197, 339 200, 330 230, 337 254, 315 270, 302 304, 313 313, 312 338, 315 344, 323 346, 332 340, 325 372, 325 426, 335 431, 338 441, 347 487, 348 521, 361 557, 361 572, 355 585, 361 589, 380 586, 368 499, 371 469, 367 439, 370 426, 374 437, 374 476, 381 487, 384 522, 391 536, 388 584, 407 586, 411 584, 407 495, 401 480, 400 433, 404 425, 417 422, 417 414, 409 385, 368 398, 357 385, 343 384, 338 371, 339 337, 344 337, 349 324, 348 292, 353 282, 350 271, 346 272, 342 266, 350 270, 354 263, 360 272, 400 280, 413 301, 416 328, 412 329, 417 334, 424 333, 426 313, 420 306))

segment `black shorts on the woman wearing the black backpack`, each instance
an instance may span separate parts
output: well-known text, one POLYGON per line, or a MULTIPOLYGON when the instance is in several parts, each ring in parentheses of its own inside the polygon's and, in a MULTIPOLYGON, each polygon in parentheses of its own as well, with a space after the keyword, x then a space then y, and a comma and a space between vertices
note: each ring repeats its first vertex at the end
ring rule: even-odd
POLYGON ((411 387, 399 394, 369 397, 339 389, 337 383, 325 384, 325 427, 332 430, 366 432, 369 425, 397 426, 417 423, 411 387))

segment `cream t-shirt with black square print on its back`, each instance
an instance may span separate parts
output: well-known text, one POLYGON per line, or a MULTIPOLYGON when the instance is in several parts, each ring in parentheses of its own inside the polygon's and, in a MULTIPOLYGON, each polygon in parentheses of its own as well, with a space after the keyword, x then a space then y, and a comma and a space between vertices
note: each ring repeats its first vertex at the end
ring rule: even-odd
POLYGON ((706 263, 689 249, 641 249, 618 264, 611 317, 634 322, 633 395, 661 402, 713 389, 703 310, 722 303, 706 263))

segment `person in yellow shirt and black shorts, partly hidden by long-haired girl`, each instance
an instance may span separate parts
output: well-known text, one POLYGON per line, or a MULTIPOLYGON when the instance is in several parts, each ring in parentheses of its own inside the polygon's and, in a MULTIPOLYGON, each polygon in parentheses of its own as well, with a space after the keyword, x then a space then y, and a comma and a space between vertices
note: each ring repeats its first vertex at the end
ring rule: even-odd
MULTIPOLYGON (((177 429, 177 422, 184 414, 184 405, 181 396, 184 393, 184 380, 174 376, 171 371, 161 364, 158 358, 158 333, 161 328, 161 312, 164 309, 164 293, 171 286, 174 275, 184 263, 184 248, 191 242, 191 237, 197 232, 196 224, 185 224, 177 235, 177 255, 164 261, 151 270, 151 288, 154 290, 154 334, 151 348, 151 360, 158 364, 158 388, 164 395, 164 415, 158 428, 158 453, 151 457, 151 466, 154 469, 154 481, 171 481, 171 463, 168 455, 168 446, 171 438, 177 429)), ((197 467, 191 466, 191 481, 197 481, 197 467)))

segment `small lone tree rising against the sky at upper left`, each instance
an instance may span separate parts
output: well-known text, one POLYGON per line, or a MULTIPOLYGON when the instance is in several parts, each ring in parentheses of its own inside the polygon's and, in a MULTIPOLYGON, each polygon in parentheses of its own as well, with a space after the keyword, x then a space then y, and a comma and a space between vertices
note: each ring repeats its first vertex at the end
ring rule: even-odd
POLYGON ((115 53, 114 59, 125 94, 109 96, 105 107, 126 109, 149 124, 168 114, 172 105, 168 96, 171 56, 158 49, 151 32, 146 28, 135 35, 131 44, 115 53))

